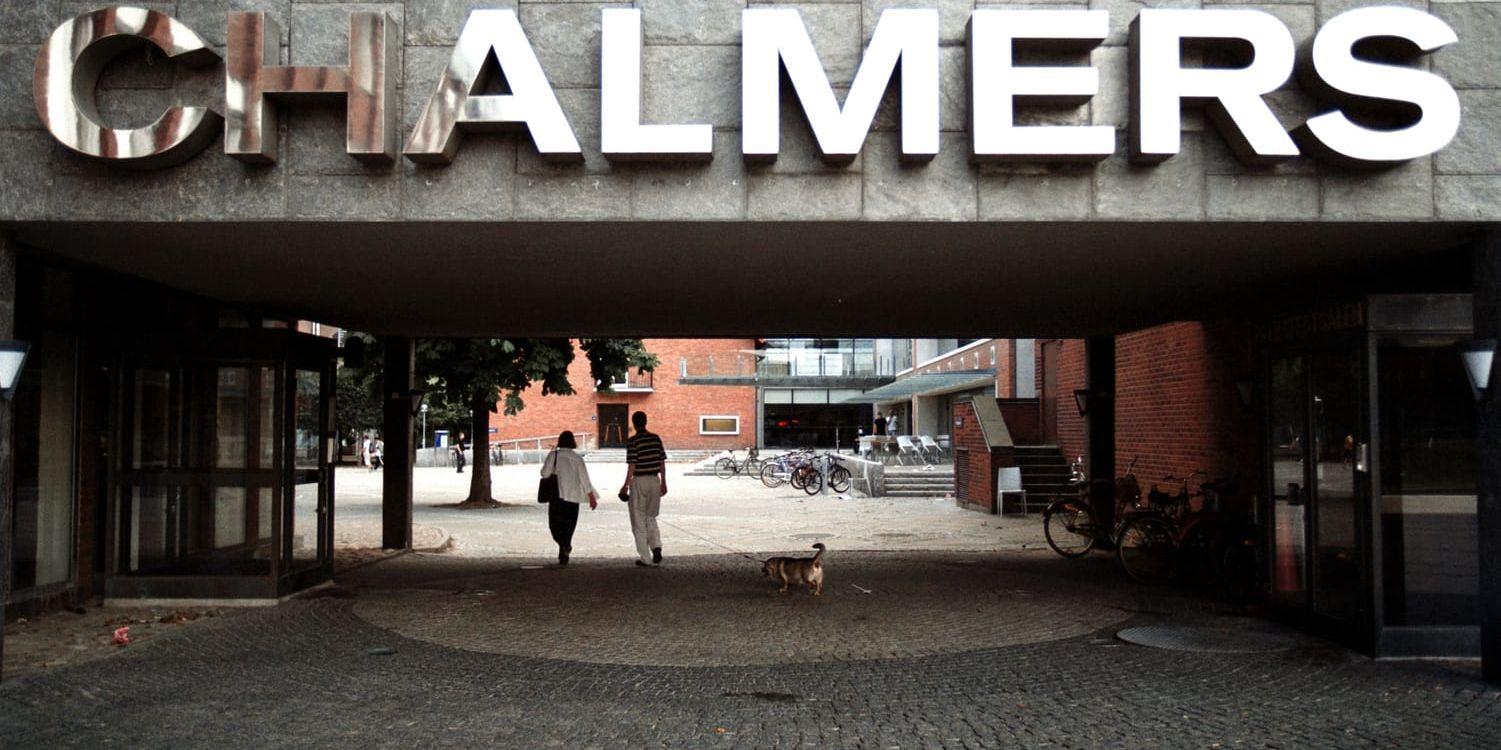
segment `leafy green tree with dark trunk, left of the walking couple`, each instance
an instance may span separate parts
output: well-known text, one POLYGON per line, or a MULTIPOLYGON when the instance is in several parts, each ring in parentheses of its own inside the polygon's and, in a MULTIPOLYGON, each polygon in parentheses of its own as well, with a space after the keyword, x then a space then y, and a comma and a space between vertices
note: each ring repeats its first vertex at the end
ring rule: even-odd
MULTIPOLYGON (((579 339, 588 357, 588 372, 594 387, 606 390, 609 382, 630 368, 639 372, 656 369, 657 358, 641 339, 579 339)), ((486 436, 489 416, 504 402, 506 414, 516 414, 525 404, 522 392, 533 382, 542 384, 542 394, 573 393, 567 368, 573 362, 569 339, 426 339, 417 344, 417 375, 429 387, 437 387, 453 404, 470 408, 468 434, 476 447, 470 472, 470 494, 462 508, 495 507, 489 495, 489 458, 486 436)))

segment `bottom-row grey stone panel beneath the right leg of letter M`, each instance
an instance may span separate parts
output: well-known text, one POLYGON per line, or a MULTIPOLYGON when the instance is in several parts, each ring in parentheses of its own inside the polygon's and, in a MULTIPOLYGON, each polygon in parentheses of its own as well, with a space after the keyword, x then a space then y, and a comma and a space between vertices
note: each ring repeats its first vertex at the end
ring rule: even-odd
POLYGON ((865 218, 875 220, 974 220, 976 171, 967 140, 940 136, 938 156, 926 164, 902 164, 896 134, 872 134, 865 144, 865 218))

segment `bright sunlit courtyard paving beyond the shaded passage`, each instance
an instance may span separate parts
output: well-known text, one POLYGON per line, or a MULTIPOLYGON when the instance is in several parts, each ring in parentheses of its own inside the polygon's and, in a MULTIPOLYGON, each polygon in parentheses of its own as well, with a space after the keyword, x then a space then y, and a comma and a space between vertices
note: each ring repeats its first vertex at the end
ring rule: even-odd
MULTIPOLYGON (((668 465, 668 495, 662 500, 662 546, 668 555, 726 550, 800 550, 824 542, 832 550, 1036 549, 1046 544, 1039 516, 986 516, 955 507, 953 500, 808 496, 760 480, 686 477, 687 464, 668 465)), ((599 510, 579 512, 573 537, 576 561, 633 556, 626 504, 615 492, 624 464, 590 464, 600 494, 599 510)), ((546 506, 536 502, 539 466, 494 466, 492 496, 507 504, 494 510, 452 507, 468 494, 468 472, 419 468, 413 522, 419 549, 434 538, 452 538, 459 556, 548 556, 557 546, 548 534, 546 506), (423 542, 426 540, 426 542, 423 542)), ((380 472, 342 468, 335 477, 335 531, 350 548, 380 546, 380 472)))

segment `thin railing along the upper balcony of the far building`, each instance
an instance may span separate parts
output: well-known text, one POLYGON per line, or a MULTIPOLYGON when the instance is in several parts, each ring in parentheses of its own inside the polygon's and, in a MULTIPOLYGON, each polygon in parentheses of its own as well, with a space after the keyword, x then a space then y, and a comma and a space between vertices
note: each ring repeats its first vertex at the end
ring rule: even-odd
POLYGON ((895 378, 895 357, 869 351, 760 350, 680 357, 678 378, 895 378))

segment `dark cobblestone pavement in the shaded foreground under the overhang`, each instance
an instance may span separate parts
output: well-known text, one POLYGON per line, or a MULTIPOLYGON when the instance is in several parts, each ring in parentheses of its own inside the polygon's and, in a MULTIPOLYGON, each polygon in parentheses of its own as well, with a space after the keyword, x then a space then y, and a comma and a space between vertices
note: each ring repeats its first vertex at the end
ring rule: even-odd
POLYGON ((662 614, 671 608, 623 616, 618 606, 593 606, 590 592, 723 597, 726 608, 763 624, 775 621, 766 612, 841 604, 829 596, 779 597, 754 572, 717 556, 672 558, 660 570, 620 561, 548 570, 558 584, 546 598, 549 586, 534 578, 543 573, 521 570, 542 562, 408 555, 356 570, 320 597, 213 618, 111 658, 8 681, 0 686, 0 746, 1426 748, 1492 747, 1501 732, 1501 693, 1486 688, 1471 663, 1370 662, 1310 639, 1255 656, 1123 645, 1111 638, 1115 628, 1168 618, 1154 612, 1243 626, 1186 600, 1145 596, 1103 556, 841 554, 830 570, 841 576, 838 586, 848 588, 845 576, 869 580, 875 591, 893 586, 896 598, 880 608, 892 616, 920 618, 952 592, 955 604, 974 598, 976 618, 997 630, 1031 627, 1031 620, 1057 615, 988 609, 983 600, 986 592, 1048 585, 1049 596, 1075 600, 1081 612, 1093 612, 1102 594, 1115 597, 1108 600, 1126 603, 1123 621, 1084 634, 1060 627, 1040 640, 967 648, 973 630, 950 638, 943 618, 926 633, 890 636, 880 622, 851 620, 845 639, 887 638, 896 654, 926 648, 913 639, 943 646, 862 658, 821 642, 827 636, 806 616, 790 616, 791 632, 770 624, 734 639, 747 650, 757 639, 812 640, 797 648, 823 658, 749 666, 659 666, 644 663, 645 656, 621 663, 585 650, 555 657, 554 644, 645 644, 695 627, 711 638, 723 622, 696 622, 696 610, 662 614), (726 591, 740 584, 695 588, 731 576, 746 579, 738 597, 726 591), (458 618, 447 632, 473 624, 476 638, 462 648, 405 638, 360 614, 413 591, 485 598, 518 622, 539 616, 531 630, 509 630, 510 645, 497 650, 486 622, 467 622, 462 608, 434 608, 431 598, 408 598, 408 621, 458 618), (563 596, 576 603, 570 621, 546 614, 563 596), (916 602, 901 598, 907 596, 916 602), (371 652, 383 648, 395 652, 371 652))

